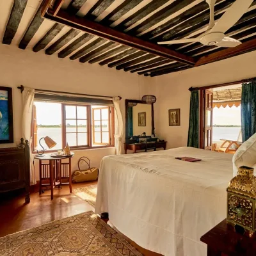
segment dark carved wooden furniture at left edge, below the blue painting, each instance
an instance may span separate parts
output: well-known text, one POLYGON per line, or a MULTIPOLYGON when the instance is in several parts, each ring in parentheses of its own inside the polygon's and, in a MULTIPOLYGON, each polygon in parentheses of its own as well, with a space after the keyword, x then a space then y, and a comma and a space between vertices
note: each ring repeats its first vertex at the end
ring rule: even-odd
POLYGON ((25 188, 25 202, 29 203, 29 145, 21 139, 19 147, 0 148, 0 193, 25 188))

